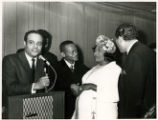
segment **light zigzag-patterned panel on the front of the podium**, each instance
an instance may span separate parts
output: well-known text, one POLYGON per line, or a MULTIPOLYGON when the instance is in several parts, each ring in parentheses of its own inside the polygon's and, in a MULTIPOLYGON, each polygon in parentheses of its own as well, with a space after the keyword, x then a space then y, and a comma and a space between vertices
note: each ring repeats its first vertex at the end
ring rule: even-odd
POLYGON ((53 97, 43 96, 23 99, 23 119, 52 119, 53 97))

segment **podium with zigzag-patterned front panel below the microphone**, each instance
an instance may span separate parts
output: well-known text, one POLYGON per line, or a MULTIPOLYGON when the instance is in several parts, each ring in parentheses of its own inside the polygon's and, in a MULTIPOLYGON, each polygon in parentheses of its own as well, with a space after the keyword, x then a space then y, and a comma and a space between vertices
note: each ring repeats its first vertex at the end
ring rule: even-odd
POLYGON ((10 96, 9 119, 64 119, 64 92, 10 96))

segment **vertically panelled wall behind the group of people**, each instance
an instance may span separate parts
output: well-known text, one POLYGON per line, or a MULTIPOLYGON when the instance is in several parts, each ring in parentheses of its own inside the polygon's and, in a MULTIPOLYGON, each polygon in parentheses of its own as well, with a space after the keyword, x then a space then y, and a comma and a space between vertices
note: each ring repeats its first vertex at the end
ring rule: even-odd
MULTIPOLYGON (((136 25, 145 44, 156 42, 156 3, 92 2, 3 2, 3 56, 23 47, 30 29, 45 29, 53 36, 50 52, 61 58, 58 49, 64 40, 78 44, 84 62, 94 65, 92 46, 98 34, 115 38, 123 22, 136 25), (152 10, 148 10, 148 8, 152 10)), ((3 57, 2 56, 2 57, 3 57)))

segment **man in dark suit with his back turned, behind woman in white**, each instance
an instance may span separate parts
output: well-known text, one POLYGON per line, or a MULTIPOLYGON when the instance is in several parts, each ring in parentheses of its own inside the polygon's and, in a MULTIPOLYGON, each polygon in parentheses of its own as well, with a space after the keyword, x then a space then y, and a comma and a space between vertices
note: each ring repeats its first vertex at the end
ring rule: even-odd
POLYGON ((119 81, 119 118, 141 118, 156 103, 156 56, 137 39, 135 26, 121 24, 116 44, 124 54, 119 81))

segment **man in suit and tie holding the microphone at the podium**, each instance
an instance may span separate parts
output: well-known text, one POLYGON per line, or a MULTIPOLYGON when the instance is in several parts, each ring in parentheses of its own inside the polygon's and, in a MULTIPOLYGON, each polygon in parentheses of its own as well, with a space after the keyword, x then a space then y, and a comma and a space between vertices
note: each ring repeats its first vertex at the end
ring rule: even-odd
POLYGON ((38 58, 43 37, 39 31, 28 31, 24 36, 24 50, 3 59, 3 85, 7 96, 33 94, 49 86, 44 74, 44 62, 38 58))

